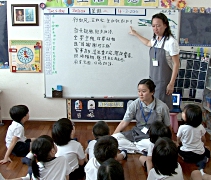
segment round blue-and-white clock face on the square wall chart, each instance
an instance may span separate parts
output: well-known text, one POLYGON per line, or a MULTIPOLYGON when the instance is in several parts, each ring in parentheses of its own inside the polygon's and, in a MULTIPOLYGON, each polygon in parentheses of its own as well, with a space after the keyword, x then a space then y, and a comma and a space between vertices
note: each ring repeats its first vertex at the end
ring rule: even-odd
POLYGON ((22 47, 18 51, 18 60, 24 64, 30 63, 34 58, 33 51, 28 47, 22 47))

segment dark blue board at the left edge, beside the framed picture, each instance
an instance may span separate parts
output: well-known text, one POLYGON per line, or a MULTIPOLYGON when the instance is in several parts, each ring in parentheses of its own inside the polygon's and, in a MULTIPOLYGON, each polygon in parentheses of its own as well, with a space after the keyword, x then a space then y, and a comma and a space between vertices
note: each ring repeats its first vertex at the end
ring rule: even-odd
POLYGON ((8 69, 7 1, 0 1, 0 17, 0 69, 8 69))

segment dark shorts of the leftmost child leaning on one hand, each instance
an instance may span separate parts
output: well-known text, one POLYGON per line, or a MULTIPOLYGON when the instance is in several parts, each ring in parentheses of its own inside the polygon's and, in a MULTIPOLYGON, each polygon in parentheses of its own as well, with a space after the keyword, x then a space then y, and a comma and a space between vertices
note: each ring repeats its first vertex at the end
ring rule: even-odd
POLYGON ((12 154, 19 157, 25 157, 30 151, 31 139, 27 139, 25 142, 18 141, 12 150, 12 154))

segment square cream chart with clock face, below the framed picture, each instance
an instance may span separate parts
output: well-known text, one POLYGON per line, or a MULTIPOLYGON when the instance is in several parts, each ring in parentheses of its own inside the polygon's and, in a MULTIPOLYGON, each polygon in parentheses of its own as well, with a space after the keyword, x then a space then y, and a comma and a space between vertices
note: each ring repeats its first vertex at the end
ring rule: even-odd
POLYGON ((40 40, 10 40, 9 43, 11 72, 41 72, 40 40))

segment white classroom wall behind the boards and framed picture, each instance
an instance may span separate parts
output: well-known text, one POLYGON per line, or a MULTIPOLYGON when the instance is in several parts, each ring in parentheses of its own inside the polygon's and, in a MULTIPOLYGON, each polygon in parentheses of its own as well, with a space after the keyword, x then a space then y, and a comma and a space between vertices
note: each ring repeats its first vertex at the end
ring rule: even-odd
MULTIPOLYGON (((12 26, 11 22, 11 4, 40 4, 40 2, 42 1, 7 1, 8 40, 43 39, 43 13, 40 8, 39 26, 12 26)), ((190 7, 211 7, 210 0, 186 0, 186 2, 190 7)), ((191 50, 190 47, 181 47, 181 49, 191 50)), ((211 53, 211 48, 208 52, 211 53)), ((25 104, 29 107, 31 120, 56 121, 67 116, 65 99, 44 98, 44 73, 11 73, 9 69, 0 69, 0 90, 3 91, 0 94, 3 120, 10 119, 9 109, 16 104, 25 104)))

